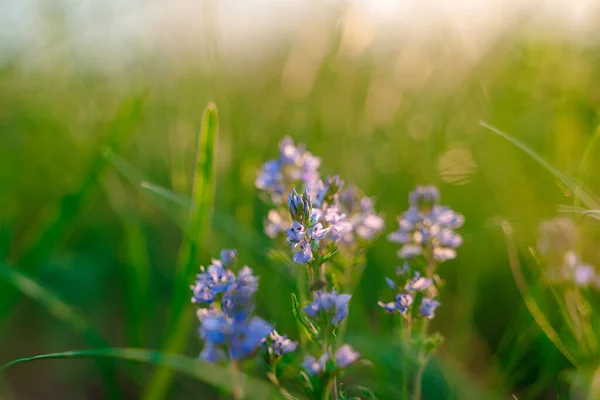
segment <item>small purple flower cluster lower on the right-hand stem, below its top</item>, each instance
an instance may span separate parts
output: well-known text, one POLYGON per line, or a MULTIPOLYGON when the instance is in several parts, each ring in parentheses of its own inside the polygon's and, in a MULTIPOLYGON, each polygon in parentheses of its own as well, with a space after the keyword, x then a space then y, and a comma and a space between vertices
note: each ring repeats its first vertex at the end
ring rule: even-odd
MULTIPOLYGON (((408 264, 404 268, 399 268, 396 273, 401 277, 407 277, 410 269, 408 264)), ((425 318, 433 319, 435 309, 440 305, 440 302, 435 300, 433 296, 436 294, 433 290, 433 280, 421 276, 419 272, 415 272, 411 279, 406 278, 405 284, 396 285, 394 280, 386 278, 386 282, 391 289, 398 289, 395 301, 384 303, 378 302, 379 306, 389 313, 400 313, 405 317, 412 317, 412 306, 415 300, 421 298, 421 306, 419 307, 419 315, 425 318)))

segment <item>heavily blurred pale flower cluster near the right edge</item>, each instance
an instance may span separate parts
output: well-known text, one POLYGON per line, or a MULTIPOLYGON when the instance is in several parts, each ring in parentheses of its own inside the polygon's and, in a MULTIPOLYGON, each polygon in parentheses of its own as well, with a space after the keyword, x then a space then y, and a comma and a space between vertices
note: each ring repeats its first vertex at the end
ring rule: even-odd
POLYGON ((600 289, 600 273, 584 263, 577 252, 577 227, 568 218, 555 218, 540 224, 539 254, 547 265, 547 276, 553 282, 572 282, 580 287, 600 289))

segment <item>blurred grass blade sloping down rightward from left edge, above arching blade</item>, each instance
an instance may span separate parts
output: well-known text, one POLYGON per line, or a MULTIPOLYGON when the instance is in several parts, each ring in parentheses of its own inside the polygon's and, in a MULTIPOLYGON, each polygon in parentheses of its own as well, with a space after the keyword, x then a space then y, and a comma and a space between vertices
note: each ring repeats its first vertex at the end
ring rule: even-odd
MULTIPOLYGON (((80 335, 92 347, 105 347, 107 342, 93 327, 92 323, 77 310, 68 304, 58 293, 45 288, 34 279, 22 274, 15 268, 0 263, 0 279, 16 288, 20 293, 30 297, 50 314, 62 321, 73 332, 80 335)), ((111 360, 98 360, 98 368, 104 379, 106 389, 111 399, 122 399, 115 378, 114 363, 111 360)))

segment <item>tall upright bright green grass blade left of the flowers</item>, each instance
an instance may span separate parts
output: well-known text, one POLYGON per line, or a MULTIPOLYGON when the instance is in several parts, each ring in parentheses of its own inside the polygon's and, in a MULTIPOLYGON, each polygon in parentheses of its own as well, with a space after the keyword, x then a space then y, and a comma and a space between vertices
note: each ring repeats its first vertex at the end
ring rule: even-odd
MULTIPOLYGON (((166 353, 180 353, 190 336, 195 314, 190 307, 189 285, 197 267, 198 249, 206 239, 214 203, 214 153, 218 134, 218 114, 214 103, 204 109, 198 136, 198 149, 194 168, 191 204, 179 249, 175 287, 171 300, 171 315, 167 325, 166 353)), ((167 396, 173 373, 159 367, 148 382, 143 398, 160 400, 167 396)))

